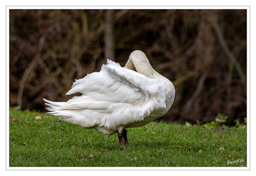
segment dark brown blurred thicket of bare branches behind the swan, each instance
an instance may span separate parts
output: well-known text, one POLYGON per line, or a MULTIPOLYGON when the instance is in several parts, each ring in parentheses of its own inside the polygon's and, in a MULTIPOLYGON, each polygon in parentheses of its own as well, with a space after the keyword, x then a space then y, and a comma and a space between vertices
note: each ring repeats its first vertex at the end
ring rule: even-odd
MULTIPOLYGON (((176 89, 170 122, 247 116, 246 10, 10 10, 10 106, 46 111, 75 79, 141 50, 176 89)), ((77 94, 78 95, 78 94, 77 94)))

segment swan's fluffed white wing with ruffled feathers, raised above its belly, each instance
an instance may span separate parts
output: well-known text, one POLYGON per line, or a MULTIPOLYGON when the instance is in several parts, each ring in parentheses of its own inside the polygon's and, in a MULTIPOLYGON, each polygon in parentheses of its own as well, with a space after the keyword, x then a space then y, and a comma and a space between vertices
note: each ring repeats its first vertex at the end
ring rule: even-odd
POLYGON ((165 108, 165 94, 161 89, 163 81, 150 79, 135 71, 122 68, 119 64, 108 60, 102 65, 100 72, 88 74, 76 80, 67 94, 80 92, 83 95, 70 99, 64 105, 56 106, 51 102, 49 111, 71 109, 90 109, 94 111, 115 111, 116 108, 142 106, 154 100, 149 109, 165 108), (53 108, 52 108, 53 107, 53 108))

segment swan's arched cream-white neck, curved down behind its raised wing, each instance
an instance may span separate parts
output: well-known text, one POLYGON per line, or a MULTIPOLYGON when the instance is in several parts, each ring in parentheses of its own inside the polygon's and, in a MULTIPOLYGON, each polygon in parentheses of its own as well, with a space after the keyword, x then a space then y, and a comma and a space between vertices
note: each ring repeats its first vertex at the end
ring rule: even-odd
POLYGON ((148 58, 142 51, 133 51, 130 54, 130 57, 126 62, 124 68, 137 71, 138 73, 143 74, 151 79, 162 79, 164 81, 169 81, 169 79, 163 77, 152 68, 148 61, 148 58))

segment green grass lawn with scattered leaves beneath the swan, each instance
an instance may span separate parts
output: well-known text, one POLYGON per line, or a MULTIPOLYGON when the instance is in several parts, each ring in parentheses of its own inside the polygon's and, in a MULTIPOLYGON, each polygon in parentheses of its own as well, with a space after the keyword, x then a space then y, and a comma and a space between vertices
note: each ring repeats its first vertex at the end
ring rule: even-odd
POLYGON ((151 122, 128 128, 131 146, 35 111, 9 111, 9 166, 247 166, 246 128, 151 122), (36 119, 41 116, 41 119, 36 119), (12 122, 18 119, 18 123, 12 122), (243 159, 227 165, 227 161, 243 159))

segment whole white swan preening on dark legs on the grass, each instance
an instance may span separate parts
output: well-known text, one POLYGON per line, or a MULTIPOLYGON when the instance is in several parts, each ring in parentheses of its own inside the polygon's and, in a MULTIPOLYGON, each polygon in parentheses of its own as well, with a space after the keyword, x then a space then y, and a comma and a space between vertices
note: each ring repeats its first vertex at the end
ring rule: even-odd
POLYGON ((51 111, 48 113, 104 134, 117 132, 119 145, 130 145, 125 128, 160 118, 169 111, 175 97, 172 82, 154 71, 146 55, 138 50, 130 54, 124 68, 108 60, 100 72, 76 80, 67 95, 76 92, 82 95, 67 102, 44 99, 51 111))

